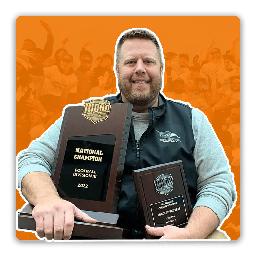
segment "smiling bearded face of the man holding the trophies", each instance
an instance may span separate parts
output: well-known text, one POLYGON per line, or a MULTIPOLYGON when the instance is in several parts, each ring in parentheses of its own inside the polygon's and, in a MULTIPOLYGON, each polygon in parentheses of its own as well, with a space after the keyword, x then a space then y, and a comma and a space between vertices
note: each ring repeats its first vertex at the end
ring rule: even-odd
POLYGON ((163 65, 152 41, 138 38, 124 41, 116 66, 122 99, 137 106, 147 106, 156 100, 162 72, 163 65))

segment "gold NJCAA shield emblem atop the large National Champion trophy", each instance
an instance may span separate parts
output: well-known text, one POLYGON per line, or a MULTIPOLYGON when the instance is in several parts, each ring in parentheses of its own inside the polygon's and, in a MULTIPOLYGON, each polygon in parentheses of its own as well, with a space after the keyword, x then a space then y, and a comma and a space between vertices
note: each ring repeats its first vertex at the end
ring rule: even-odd
POLYGON ((110 112, 111 105, 108 100, 89 100, 84 102, 84 111, 82 115, 93 124, 100 121, 104 121, 108 118, 108 112, 110 112))

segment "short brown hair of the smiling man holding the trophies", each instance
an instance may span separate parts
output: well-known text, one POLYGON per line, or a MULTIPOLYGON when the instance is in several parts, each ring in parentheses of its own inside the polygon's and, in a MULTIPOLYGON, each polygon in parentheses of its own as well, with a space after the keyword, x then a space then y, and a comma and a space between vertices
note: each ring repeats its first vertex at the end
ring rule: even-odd
POLYGON ((134 29, 126 32, 123 36, 121 36, 116 48, 116 65, 119 66, 120 52, 121 52, 121 47, 124 44, 124 41, 128 39, 137 39, 137 38, 150 40, 156 45, 156 50, 159 55, 160 64, 163 65, 161 48, 160 48, 160 45, 158 44, 156 37, 152 33, 144 29, 134 29))

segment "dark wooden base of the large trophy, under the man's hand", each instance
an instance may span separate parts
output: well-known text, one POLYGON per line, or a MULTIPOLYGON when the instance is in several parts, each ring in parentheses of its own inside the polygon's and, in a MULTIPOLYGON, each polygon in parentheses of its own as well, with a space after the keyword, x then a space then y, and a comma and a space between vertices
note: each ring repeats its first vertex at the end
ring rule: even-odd
MULTIPOLYGON (((36 231, 32 216, 33 205, 26 204, 18 212, 18 228, 36 231)), ((97 220, 96 224, 74 221, 72 239, 129 239, 129 230, 116 227, 119 215, 105 212, 84 211, 97 220), (79 237, 79 238, 78 238, 79 237)))

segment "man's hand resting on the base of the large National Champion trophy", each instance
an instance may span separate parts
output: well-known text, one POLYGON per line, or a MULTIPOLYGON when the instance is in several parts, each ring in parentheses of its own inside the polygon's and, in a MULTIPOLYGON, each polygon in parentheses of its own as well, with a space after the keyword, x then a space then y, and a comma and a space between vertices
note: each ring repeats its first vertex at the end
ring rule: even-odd
POLYGON ((56 240, 70 239, 74 218, 86 223, 95 224, 97 222, 74 204, 58 196, 53 196, 49 200, 45 198, 43 202, 36 204, 32 216, 36 222, 38 236, 56 240))

